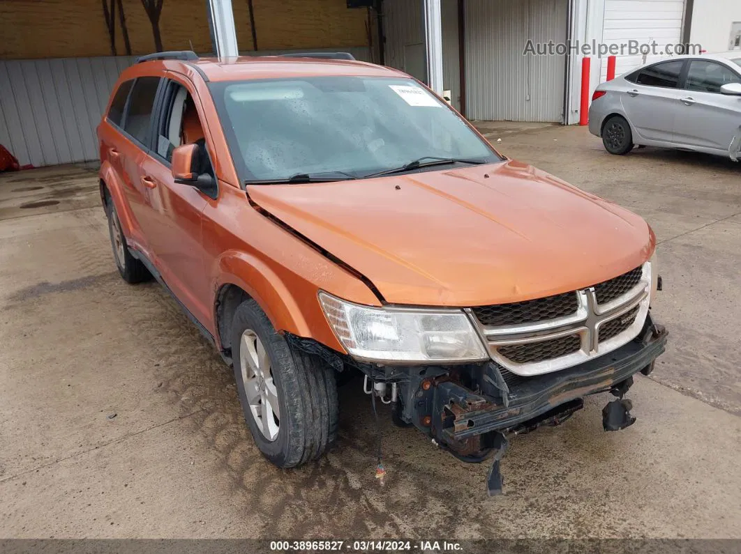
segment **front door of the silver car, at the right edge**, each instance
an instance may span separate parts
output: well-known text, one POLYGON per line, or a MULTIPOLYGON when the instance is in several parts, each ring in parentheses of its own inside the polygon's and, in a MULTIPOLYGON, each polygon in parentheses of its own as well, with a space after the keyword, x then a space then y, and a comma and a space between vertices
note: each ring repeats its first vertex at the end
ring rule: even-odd
POLYGON ((677 102, 674 142, 728 152, 741 125, 741 97, 720 92, 728 83, 741 83, 739 72, 717 61, 690 61, 677 102))

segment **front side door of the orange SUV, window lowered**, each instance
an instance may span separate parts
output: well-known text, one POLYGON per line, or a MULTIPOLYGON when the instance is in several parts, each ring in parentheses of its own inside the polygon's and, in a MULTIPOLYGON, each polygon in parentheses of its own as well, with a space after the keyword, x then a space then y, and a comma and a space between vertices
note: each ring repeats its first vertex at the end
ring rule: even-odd
MULTIPOLYGON (((140 170, 149 187, 148 239, 157 269, 190 314, 199 322, 208 322, 213 294, 201 240, 207 197, 194 186, 175 183, 170 163, 176 146, 199 143, 207 148, 203 110, 194 90, 187 78, 167 73, 154 118, 152 149, 140 170)), ((210 162, 205 165, 213 175, 210 162)))

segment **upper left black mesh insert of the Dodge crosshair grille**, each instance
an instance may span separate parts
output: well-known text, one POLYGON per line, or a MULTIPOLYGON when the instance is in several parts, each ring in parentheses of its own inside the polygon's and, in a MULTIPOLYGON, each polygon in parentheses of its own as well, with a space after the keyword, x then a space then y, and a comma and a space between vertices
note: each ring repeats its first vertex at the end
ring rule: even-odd
POLYGON ((482 325, 516 325, 555 320, 573 314, 577 307, 576 292, 566 292, 524 302, 476 306, 471 310, 482 325))

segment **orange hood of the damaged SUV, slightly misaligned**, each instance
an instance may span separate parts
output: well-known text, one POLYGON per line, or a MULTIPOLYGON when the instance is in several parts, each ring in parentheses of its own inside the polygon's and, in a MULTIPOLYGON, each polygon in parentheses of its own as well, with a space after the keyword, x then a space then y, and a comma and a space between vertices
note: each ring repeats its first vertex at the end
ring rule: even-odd
POLYGON ((617 277, 654 250, 641 217, 515 161, 249 185, 247 194, 368 277, 388 303, 530 300, 617 277))

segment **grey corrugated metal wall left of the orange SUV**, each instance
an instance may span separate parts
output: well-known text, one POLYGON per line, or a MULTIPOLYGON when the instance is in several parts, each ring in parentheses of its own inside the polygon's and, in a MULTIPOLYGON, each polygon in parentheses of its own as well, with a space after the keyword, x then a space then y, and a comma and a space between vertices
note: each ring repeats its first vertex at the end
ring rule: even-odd
POLYGON ((95 128, 133 59, 0 60, 0 144, 21 165, 96 160, 95 128))

